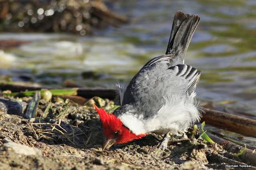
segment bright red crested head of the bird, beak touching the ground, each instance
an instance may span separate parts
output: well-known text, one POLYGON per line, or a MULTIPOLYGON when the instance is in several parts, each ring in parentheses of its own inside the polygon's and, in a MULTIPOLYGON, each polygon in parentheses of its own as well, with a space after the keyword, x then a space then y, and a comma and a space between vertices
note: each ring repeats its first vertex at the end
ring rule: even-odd
POLYGON ((146 136, 146 134, 136 135, 132 133, 114 114, 107 113, 104 109, 98 108, 96 105, 94 107, 100 116, 103 133, 107 139, 104 149, 110 148, 113 144, 126 143, 146 136))

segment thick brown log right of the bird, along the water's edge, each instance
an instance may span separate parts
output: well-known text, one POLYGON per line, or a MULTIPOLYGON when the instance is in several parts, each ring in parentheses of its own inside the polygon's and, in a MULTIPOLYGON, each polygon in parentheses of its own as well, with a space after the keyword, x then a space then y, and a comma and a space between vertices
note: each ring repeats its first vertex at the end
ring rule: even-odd
POLYGON ((256 120, 205 108, 201 122, 244 136, 256 137, 256 120))

